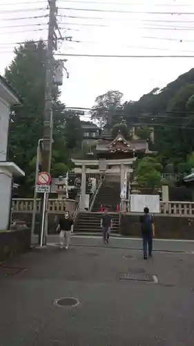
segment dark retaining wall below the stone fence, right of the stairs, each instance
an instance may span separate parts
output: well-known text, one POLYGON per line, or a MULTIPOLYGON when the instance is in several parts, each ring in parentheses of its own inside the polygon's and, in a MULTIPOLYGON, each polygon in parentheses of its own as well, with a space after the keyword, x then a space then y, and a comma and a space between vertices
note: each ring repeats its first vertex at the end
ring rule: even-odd
MULTIPOLYGON (((139 215, 122 215, 119 233, 141 237, 139 215)), ((194 218, 155 216, 155 235, 160 239, 194 239, 194 218)))

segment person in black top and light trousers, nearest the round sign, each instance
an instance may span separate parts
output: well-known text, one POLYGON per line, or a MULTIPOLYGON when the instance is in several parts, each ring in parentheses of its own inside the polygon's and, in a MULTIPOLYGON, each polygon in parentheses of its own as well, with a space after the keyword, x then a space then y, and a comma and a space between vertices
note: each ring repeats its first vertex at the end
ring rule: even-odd
POLYGON ((63 216, 59 218, 59 224, 57 226, 57 230, 60 230, 59 238, 60 238, 60 248, 64 248, 64 242, 66 237, 66 250, 68 250, 70 244, 70 233, 73 231, 73 221, 70 218, 69 212, 66 211, 63 216))

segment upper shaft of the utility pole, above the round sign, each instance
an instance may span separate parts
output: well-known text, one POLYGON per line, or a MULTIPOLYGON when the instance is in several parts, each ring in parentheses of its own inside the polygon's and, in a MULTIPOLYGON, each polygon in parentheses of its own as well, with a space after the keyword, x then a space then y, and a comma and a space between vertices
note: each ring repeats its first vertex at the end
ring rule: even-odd
POLYGON ((45 106, 43 111, 43 152, 41 170, 50 172, 52 152, 52 88, 54 84, 54 49, 57 7, 56 0, 49 1, 48 48, 46 61, 45 106))

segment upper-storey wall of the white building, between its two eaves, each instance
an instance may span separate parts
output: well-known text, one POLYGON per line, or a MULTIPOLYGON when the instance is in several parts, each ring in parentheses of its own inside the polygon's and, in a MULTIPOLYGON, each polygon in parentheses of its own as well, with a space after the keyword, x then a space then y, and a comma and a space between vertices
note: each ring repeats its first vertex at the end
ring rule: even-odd
POLYGON ((0 161, 6 161, 10 108, 0 98, 0 161))

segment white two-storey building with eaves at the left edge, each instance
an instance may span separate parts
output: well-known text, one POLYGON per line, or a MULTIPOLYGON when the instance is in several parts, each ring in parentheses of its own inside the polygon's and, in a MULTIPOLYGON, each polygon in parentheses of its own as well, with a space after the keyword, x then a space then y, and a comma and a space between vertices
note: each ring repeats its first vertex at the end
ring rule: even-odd
POLYGON ((19 96, 0 76, 0 230, 7 230, 10 223, 12 177, 25 175, 15 163, 8 162, 10 107, 19 104, 19 96))

